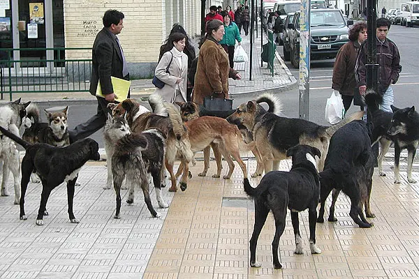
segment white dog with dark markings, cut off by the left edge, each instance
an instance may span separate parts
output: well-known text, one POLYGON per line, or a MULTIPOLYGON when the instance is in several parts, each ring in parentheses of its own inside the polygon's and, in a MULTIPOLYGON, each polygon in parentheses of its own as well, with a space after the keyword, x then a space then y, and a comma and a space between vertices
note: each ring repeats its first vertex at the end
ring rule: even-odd
MULTIPOLYGON (((0 106, 0 126, 5 127, 11 133, 19 137, 19 128, 22 126, 31 126, 31 121, 27 119, 26 108, 31 102, 20 103, 20 98, 7 105, 0 106)), ((1 180, 1 196, 6 197, 8 192, 8 177, 10 171, 13 174, 13 186, 15 188, 15 204, 19 204, 20 199, 20 162, 19 151, 16 143, 8 137, 0 135, 0 161, 3 163, 3 177, 1 180)))

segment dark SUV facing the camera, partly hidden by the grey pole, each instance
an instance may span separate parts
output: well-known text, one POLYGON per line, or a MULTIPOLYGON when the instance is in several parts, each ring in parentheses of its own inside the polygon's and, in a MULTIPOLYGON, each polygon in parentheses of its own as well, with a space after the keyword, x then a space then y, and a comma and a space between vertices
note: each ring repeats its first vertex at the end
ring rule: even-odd
MULTIPOLYGON (((337 8, 319 8, 310 14, 310 56, 311 60, 332 59, 342 45, 349 41, 348 26, 353 20, 344 20, 337 8)), ((300 11, 295 12, 293 23, 288 24, 291 64, 298 68, 300 63, 300 11)))

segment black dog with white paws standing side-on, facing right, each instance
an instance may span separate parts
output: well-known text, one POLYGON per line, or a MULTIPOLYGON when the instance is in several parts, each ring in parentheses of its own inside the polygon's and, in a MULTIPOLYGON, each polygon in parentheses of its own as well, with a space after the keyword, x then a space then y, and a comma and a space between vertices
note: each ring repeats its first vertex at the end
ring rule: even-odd
POLYGON ((91 139, 79 140, 66 147, 55 147, 49 144, 29 144, 20 137, 0 126, 3 135, 10 137, 26 149, 22 160, 22 195, 20 197, 20 220, 27 220, 24 213, 24 195, 32 172, 41 178, 42 194, 36 225, 43 225, 43 214, 52 189, 64 181, 67 182, 68 217, 71 223, 79 223, 73 213, 73 197, 75 181, 80 168, 88 160, 99 160, 99 145, 91 139))

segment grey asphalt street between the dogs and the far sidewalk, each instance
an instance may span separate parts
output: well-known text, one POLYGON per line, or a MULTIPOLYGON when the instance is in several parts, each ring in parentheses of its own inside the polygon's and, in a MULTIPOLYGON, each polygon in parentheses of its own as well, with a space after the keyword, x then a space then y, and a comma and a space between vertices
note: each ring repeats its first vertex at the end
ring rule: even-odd
MULTIPOLYGON (((418 75, 419 75, 419 56, 417 54, 419 45, 419 27, 407 28, 399 25, 392 26, 389 32, 389 38, 393 40, 399 47, 401 56, 401 64, 403 66, 399 82, 394 85, 395 91, 395 105, 397 107, 407 107, 411 105, 419 105, 418 95, 418 75)), ((277 47, 279 54, 282 54, 282 47, 277 47)), ((325 121, 324 110, 326 99, 330 97, 332 92, 332 70, 334 60, 325 61, 311 61, 310 70, 310 98, 309 98, 309 120, 321 125, 328 125, 325 121)), ((286 62, 286 65, 291 70, 291 73, 298 80, 298 70, 291 66, 291 63, 286 62)), ((89 93, 86 93, 89 96, 89 93)), ((94 100, 93 97, 91 97, 94 100)), ((294 89, 291 91, 279 93, 281 99, 282 112, 288 117, 298 117, 298 98, 299 91, 294 89)), ((238 106, 241 103, 249 100, 249 97, 235 97, 233 106, 238 106)), ((68 126, 73 128, 78 123, 82 123, 89 119, 91 115, 96 112, 95 102, 68 102, 63 100, 55 105, 69 106, 68 126)), ((148 105, 148 104, 144 104, 148 105)), ((41 109, 51 107, 50 103, 38 103, 41 109)), ((353 107, 349 112, 355 111, 353 107)), ((45 116, 43 115, 45 121, 45 116)), ((103 135, 99 130, 91 136, 97 140, 101 147, 103 147, 103 135)))

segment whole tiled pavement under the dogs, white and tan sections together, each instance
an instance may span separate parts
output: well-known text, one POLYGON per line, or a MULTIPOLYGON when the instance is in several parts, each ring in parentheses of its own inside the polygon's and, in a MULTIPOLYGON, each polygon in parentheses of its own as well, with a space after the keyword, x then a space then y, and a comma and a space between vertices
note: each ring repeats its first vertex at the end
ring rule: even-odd
MULTIPOLYGON (((281 169, 289 164, 283 161, 281 169)), ((256 162, 249 159, 247 165, 251 173, 256 162)), ((214 162, 209 176, 196 176, 202 167, 202 162, 191 167, 193 178, 185 192, 163 190, 170 207, 157 209, 163 216, 158 219, 150 217, 139 192, 132 206, 123 202, 122 218, 113 218, 115 193, 102 188, 103 162, 87 163, 80 172, 74 204, 80 224, 68 220, 64 186, 52 192, 43 227, 35 225, 41 186, 29 185, 26 221, 19 220, 13 197, 0 197, 0 278, 419 278, 419 186, 406 183, 406 172, 402 184, 393 184, 390 163, 385 163, 388 176, 374 174, 374 227, 354 225, 348 199, 341 195, 339 221, 317 225, 322 254, 309 252, 304 212, 304 255, 293 255, 288 216, 279 247, 282 270, 272 269, 272 216, 258 241, 257 259, 263 266, 249 267, 253 202, 242 190, 240 167, 230 181, 211 178, 214 162)), ((413 176, 419 180, 418 172, 413 176)), ((152 201, 157 206, 154 193, 152 201)))

